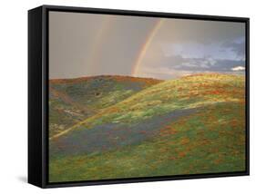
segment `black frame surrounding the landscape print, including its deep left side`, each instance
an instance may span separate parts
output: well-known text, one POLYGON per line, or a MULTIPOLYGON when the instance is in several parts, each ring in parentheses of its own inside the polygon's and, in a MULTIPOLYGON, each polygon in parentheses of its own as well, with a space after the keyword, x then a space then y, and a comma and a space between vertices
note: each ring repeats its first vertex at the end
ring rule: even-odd
POLYGON ((201 179, 250 174, 250 19, 216 15, 184 15, 144 11, 42 5, 28 11, 28 182, 40 188, 102 185, 173 179, 201 179), (204 21, 244 23, 246 26, 246 170, 225 173, 48 182, 48 13, 71 12, 100 15, 136 15, 204 21))

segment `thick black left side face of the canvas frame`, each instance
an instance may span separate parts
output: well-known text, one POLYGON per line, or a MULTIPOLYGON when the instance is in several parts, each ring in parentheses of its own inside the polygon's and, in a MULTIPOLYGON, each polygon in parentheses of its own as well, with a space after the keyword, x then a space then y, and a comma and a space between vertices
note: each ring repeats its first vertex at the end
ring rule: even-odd
POLYGON ((42 188, 42 6, 28 11, 28 183, 42 188))

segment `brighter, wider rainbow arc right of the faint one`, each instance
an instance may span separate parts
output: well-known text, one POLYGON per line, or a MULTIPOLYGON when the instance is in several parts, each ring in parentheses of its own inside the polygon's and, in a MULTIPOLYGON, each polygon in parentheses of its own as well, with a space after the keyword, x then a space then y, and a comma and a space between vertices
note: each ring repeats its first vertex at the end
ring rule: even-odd
POLYGON ((148 51, 148 47, 151 44, 152 40, 154 39, 155 35, 158 33, 161 25, 164 23, 164 19, 159 19, 159 21, 156 23, 156 25, 153 27, 153 29, 148 34, 146 41, 144 44, 142 44, 140 52, 138 52, 138 57, 133 65, 131 75, 136 76, 138 73, 139 66, 141 65, 141 62, 145 56, 145 54, 148 51))

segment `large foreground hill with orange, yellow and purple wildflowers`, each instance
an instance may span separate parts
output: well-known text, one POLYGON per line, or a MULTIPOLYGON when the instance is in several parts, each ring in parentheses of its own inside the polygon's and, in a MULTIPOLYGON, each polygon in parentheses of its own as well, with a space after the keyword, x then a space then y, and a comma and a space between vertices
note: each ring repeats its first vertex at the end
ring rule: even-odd
POLYGON ((95 105, 97 112, 50 140, 49 179, 244 170, 244 92, 244 76, 198 74, 95 105))

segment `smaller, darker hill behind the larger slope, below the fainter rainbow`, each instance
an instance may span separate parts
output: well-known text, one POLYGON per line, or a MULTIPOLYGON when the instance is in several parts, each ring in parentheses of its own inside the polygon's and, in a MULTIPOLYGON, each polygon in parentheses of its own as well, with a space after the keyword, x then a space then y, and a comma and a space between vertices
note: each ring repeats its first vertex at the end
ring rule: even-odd
POLYGON ((50 80, 50 137, 159 82, 155 79, 108 75, 50 80))

